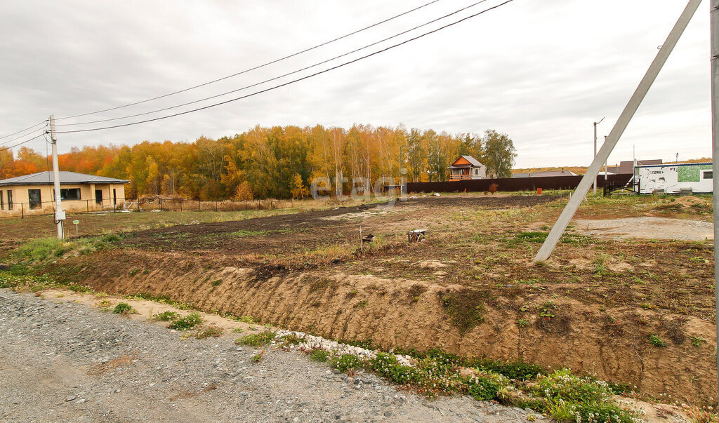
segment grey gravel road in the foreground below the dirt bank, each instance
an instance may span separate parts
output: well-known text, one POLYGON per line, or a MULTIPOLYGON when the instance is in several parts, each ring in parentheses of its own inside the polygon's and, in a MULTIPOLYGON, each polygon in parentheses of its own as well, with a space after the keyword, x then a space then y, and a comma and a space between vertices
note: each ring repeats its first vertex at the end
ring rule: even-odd
POLYGON ((462 396, 428 401, 301 353, 268 349, 260 363, 249 360, 255 354, 231 337, 180 340, 152 322, 0 289, 0 420, 526 422, 531 414, 462 396))

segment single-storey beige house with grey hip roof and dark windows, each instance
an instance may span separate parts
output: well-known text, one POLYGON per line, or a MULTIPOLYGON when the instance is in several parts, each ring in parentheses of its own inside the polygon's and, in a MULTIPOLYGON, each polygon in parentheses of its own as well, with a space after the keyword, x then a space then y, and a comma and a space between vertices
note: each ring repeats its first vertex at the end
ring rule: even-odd
MULTIPOLYGON (((124 203, 127 180, 60 172, 63 210, 101 210, 124 203)), ((0 180, 0 214, 51 213, 55 208, 55 175, 39 172, 0 180)))

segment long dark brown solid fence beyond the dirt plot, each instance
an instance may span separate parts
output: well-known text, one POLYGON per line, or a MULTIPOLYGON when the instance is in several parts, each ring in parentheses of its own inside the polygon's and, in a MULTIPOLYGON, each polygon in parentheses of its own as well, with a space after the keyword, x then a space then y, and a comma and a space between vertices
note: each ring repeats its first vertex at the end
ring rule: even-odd
MULTIPOLYGON (((626 184, 632 175, 608 175, 613 185, 626 184)), ((462 180, 452 182, 407 182, 407 192, 485 192, 497 184, 498 191, 574 190, 582 176, 511 177, 486 180, 462 180)), ((604 175, 597 177, 597 187, 604 187, 604 175)))

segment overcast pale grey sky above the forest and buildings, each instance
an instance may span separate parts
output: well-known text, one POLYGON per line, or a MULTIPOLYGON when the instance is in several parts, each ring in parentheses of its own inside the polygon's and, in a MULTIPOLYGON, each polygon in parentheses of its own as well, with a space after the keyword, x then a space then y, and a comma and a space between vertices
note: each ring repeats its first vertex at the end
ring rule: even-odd
MULTIPOLYGON (((0 136, 36 124, 50 113, 58 118, 87 113, 221 78, 428 1, 2 1, 0 136)), ((241 88, 475 1, 439 0, 341 42, 221 83, 58 124, 144 113, 241 88)), ((486 1, 326 65, 193 106, 329 68, 498 3, 486 1)), ((93 144, 193 141, 201 135, 237 134, 256 124, 348 128, 353 123, 403 123, 451 133, 505 132, 514 140, 517 167, 588 165, 592 122, 606 116, 598 129, 603 140, 684 6, 682 0, 515 0, 293 85, 163 121, 60 134, 58 146, 67 152, 93 144)), ((705 1, 610 162, 632 159, 633 147, 639 159, 673 160, 677 152, 679 159, 710 157, 708 9, 705 1)), ((58 131, 139 119, 58 126, 58 131)), ((45 153, 42 139, 27 145, 45 153)))

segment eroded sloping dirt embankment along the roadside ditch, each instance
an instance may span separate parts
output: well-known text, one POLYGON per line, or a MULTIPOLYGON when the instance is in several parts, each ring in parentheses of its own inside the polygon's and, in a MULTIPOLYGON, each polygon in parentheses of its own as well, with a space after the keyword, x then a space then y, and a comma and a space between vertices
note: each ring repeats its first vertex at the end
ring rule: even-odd
POLYGON ((667 310, 616 307, 600 315, 547 294, 543 311, 549 315, 540 316, 540 310, 503 307, 521 297, 466 302, 476 292, 459 285, 347 275, 331 268, 268 274, 232 266, 231 259, 209 264, 199 254, 115 250, 89 261, 72 259, 65 269, 68 264, 75 265, 75 279, 98 291, 167 295, 201 310, 252 315, 326 338, 371 339, 383 348, 439 347, 567 366, 692 404, 717 398, 713 324, 667 310), (652 334, 669 347, 651 345, 652 334), (697 347, 690 337, 705 341, 697 347))

